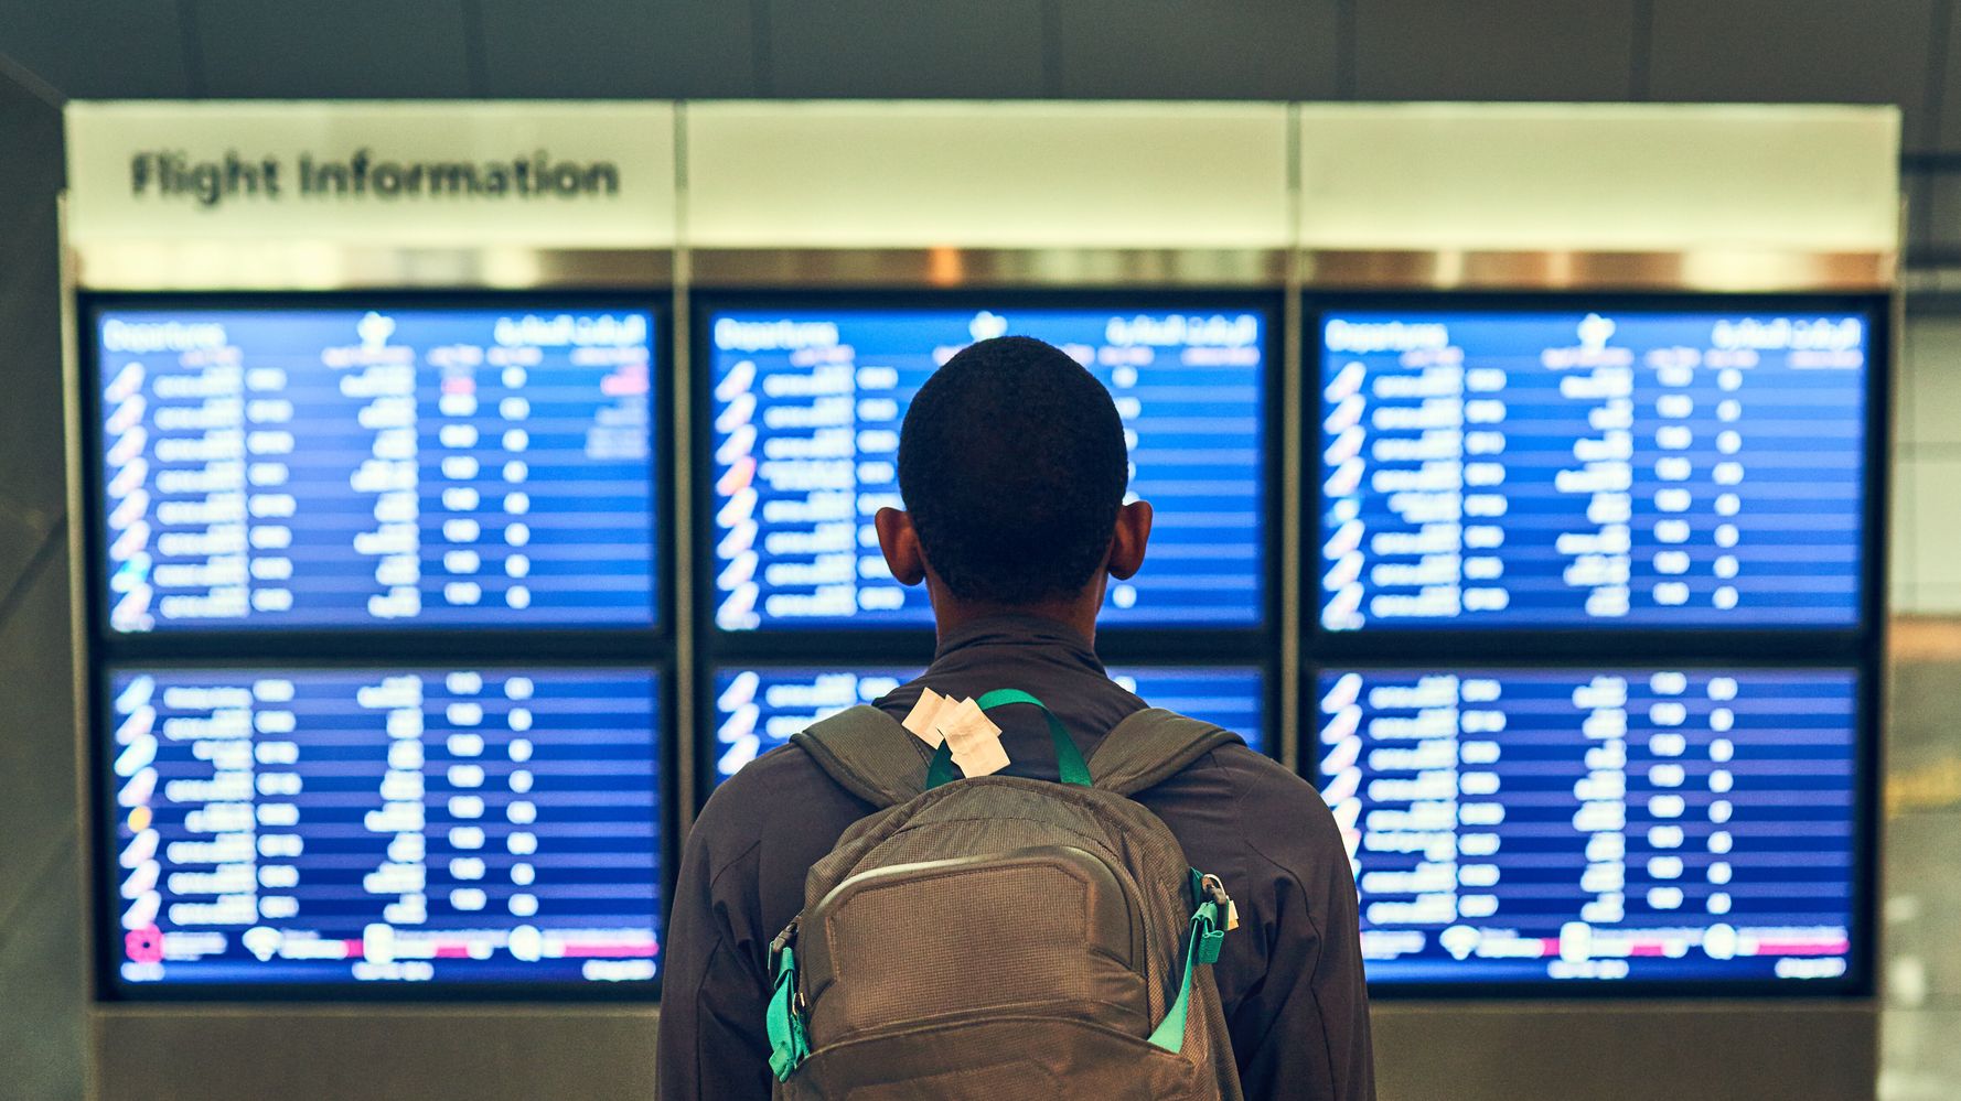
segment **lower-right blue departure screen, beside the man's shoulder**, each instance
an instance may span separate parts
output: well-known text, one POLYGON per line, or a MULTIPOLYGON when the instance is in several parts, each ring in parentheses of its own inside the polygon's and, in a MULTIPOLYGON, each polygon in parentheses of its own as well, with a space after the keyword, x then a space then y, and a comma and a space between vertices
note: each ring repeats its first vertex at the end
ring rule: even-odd
POLYGON ((1837 980, 1851 670, 1324 672, 1377 983, 1837 980))

